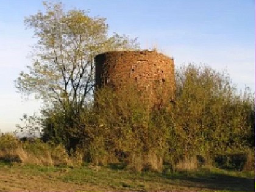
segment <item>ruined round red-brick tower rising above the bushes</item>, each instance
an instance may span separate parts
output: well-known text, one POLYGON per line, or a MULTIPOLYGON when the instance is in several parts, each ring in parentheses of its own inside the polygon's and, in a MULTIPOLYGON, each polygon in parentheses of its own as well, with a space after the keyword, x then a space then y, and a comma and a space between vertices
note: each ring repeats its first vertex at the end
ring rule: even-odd
POLYGON ((174 99, 174 61, 157 51, 110 51, 95 57, 96 88, 135 85, 152 105, 174 99))

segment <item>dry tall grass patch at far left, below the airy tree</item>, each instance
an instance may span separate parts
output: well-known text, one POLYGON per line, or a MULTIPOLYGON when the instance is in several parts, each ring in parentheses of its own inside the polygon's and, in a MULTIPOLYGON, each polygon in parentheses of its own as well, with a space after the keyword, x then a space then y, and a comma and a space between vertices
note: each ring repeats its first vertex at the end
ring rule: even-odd
POLYGON ((0 161, 32 165, 76 166, 82 164, 82 155, 68 155, 59 145, 43 143, 40 139, 20 141, 10 133, 0 136, 0 161))

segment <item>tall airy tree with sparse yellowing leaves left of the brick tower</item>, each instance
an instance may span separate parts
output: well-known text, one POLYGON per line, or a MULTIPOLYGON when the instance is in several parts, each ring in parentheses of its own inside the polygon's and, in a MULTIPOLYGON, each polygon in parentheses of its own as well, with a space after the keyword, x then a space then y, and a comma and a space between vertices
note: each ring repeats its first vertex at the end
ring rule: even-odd
POLYGON ((137 49, 136 39, 108 35, 105 18, 91 17, 88 11, 65 11, 61 2, 43 2, 39 11, 24 20, 38 38, 34 63, 21 72, 16 88, 43 99, 44 114, 63 113, 67 129, 79 127, 80 113, 94 92, 94 56, 105 51, 137 49))

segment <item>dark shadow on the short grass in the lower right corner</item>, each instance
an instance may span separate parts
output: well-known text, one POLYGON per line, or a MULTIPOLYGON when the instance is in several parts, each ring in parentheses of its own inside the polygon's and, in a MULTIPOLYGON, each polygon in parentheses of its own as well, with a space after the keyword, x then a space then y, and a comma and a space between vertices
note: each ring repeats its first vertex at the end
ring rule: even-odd
POLYGON ((179 179, 186 187, 199 187, 204 190, 255 191, 255 179, 226 174, 208 173, 203 176, 162 175, 166 179, 179 179))

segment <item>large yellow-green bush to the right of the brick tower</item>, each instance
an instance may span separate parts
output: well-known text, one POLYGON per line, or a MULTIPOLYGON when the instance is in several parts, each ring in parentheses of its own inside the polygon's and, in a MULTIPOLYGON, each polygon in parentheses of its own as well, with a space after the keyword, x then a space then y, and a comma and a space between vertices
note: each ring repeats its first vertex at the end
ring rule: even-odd
MULTIPOLYGON (((238 94, 226 73, 207 66, 183 66, 176 73, 170 151, 184 161, 200 155, 212 164, 217 154, 246 152, 254 126, 254 97, 238 94)), ((172 161, 177 158, 168 157, 172 161)))

